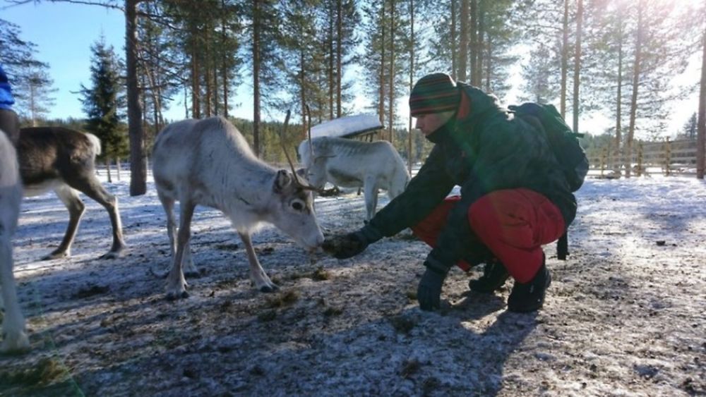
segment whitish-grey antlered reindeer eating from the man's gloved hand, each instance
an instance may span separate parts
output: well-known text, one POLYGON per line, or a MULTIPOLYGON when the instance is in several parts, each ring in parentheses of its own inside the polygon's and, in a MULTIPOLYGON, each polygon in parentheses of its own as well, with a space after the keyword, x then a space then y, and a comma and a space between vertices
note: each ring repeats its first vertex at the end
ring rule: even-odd
POLYGON ((152 173, 167 214, 172 252, 168 299, 188 296, 183 268, 195 270, 189 238, 197 204, 220 209, 228 216, 245 245, 251 281, 262 292, 278 287, 258 262, 250 237, 261 222, 274 224, 308 250, 316 250, 323 243, 313 212, 311 187, 299 181, 296 174, 259 160, 225 118, 184 120, 164 128, 152 149, 152 173), (177 200, 178 235, 174 220, 177 200))

